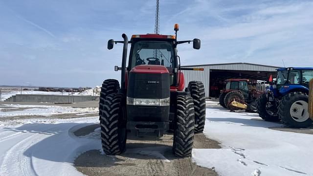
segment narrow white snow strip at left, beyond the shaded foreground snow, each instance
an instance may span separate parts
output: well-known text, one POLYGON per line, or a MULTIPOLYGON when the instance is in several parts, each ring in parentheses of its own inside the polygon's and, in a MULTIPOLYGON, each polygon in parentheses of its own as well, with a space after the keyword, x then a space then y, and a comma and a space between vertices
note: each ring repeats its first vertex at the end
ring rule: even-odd
POLYGON ((25 115, 49 116, 49 115, 64 114, 64 113, 88 114, 88 113, 98 112, 98 108, 72 108, 72 107, 46 106, 46 105, 1 105, 1 106, 5 108, 0 108, 0 118, 11 117, 11 116, 25 116, 25 115), (24 110, 18 110, 20 108, 24 108, 24 110), (11 109, 11 110, 13 109, 13 111, 2 111, 3 109, 11 109))

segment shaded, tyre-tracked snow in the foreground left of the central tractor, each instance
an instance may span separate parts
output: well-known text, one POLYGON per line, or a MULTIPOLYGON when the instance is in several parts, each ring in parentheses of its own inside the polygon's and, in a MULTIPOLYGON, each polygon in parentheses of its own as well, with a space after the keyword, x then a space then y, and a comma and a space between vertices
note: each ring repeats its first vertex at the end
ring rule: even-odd
POLYGON ((92 134, 76 137, 72 132, 98 120, 28 119, 6 124, 0 128, 0 176, 82 176, 71 163, 82 152, 100 150, 101 143, 89 137, 92 134))

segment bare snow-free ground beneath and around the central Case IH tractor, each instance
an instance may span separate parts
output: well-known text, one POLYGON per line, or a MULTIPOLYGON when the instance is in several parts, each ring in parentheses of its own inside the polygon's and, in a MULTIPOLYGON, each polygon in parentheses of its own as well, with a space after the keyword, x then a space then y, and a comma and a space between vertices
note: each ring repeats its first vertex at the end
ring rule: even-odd
MULTIPOLYGON (((98 127, 99 124, 89 125, 74 134, 86 135, 98 127)), ((172 133, 159 138, 128 136, 125 153, 109 156, 98 150, 87 151, 75 159, 74 166, 88 176, 218 176, 214 168, 197 166, 190 157, 175 156, 172 145, 172 133)), ((221 146, 200 133, 195 135, 194 148, 220 149, 221 146)))

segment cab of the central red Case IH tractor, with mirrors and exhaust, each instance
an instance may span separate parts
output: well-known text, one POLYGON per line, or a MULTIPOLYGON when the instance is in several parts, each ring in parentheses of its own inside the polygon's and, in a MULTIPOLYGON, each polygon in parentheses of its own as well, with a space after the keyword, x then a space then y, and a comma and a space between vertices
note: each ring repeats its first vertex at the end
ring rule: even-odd
MULTIPOLYGON (((124 41, 108 41, 108 49, 112 49, 114 44, 123 43, 123 57, 122 67, 115 66, 115 71, 122 70, 121 82, 128 79, 129 72, 136 66, 164 66, 169 71, 171 91, 182 90, 184 88, 184 77, 180 70, 200 70, 203 68, 181 68, 180 57, 177 55, 177 45, 191 42, 194 49, 200 49, 201 41, 194 39, 192 41, 177 41, 177 32, 179 31, 179 25, 174 26, 175 35, 160 35, 160 34, 141 34, 132 35, 130 41, 125 34, 122 35, 124 41), (127 45, 131 44, 131 51, 126 66, 127 57, 127 45), (127 71, 124 71, 127 70, 127 71), (123 73, 125 72, 125 73, 123 73)), ((160 68, 160 67, 159 67, 160 68)), ((123 84, 123 83, 122 83, 123 84)), ((125 82, 127 84, 127 82, 125 82)), ((123 84, 124 85, 124 84, 123 84)), ((121 89, 126 91, 126 87, 121 89)))

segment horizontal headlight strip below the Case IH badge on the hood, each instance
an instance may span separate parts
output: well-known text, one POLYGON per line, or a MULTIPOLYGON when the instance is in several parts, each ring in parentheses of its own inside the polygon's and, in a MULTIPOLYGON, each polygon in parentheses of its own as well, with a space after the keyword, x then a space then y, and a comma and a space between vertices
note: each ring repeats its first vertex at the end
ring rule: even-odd
POLYGON ((141 105, 141 106, 169 106, 170 97, 168 98, 131 98, 127 97, 127 105, 141 105))

